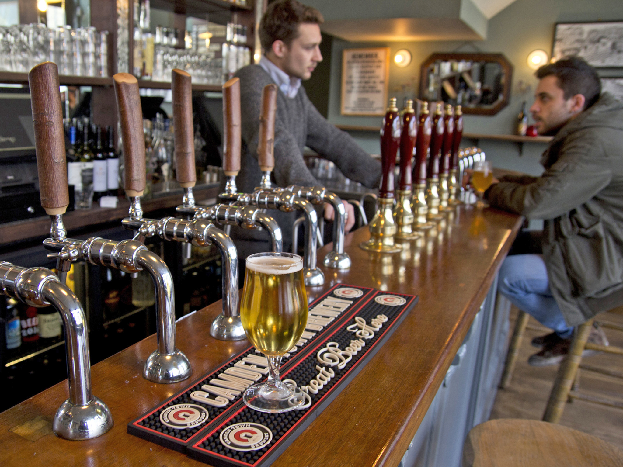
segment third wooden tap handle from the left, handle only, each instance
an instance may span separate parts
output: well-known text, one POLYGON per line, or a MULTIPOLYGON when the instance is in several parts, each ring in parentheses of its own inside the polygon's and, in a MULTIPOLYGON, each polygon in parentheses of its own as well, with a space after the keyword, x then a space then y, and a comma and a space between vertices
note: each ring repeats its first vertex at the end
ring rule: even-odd
POLYGON ((173 90, 173 131, 175 176, 183 188, 194 187, 197 172, 194 161, 193 88, 191 75, 178 70, 171 72, 173 90))

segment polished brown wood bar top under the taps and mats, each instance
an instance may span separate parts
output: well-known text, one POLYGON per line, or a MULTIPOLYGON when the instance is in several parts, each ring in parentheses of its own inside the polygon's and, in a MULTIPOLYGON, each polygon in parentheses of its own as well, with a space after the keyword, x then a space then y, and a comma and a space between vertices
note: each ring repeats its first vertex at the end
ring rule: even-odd
MULTIPOLYGON (((369 238, 366 227, 346 235, 352 267, 347 271, 323 268, 326 283, 308 289, 310 296, 342 282, 417 294, 420 301, 378 354, 273 466, 398 465, 522 220, 499 210, 458 207, 424 237, 393 255, 358 247, 369 238)), ((326 245, 318 258, 330 248, 326 245)), ((220 302, 178 322, 176 345, 193 365, 191 380, 248 345, 247 341, 216 341, 209 335, 219 311, 220 302)), ((112 430, 100 438, 65 441, 52 433, 52 417, 67 399, 66 381, 1 413, 0 465, 204 465, 126 433, 128 422, 191 382, 159 385, 143 379, 143 362, 155 348, 156 336, 150 336, 92 367, 93 394, 108 404, 115 419, 112 430)))

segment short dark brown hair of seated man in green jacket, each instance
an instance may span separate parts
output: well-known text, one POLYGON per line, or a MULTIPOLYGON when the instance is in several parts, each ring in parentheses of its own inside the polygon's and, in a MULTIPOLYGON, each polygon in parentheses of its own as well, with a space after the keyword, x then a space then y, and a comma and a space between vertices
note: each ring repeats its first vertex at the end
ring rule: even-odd
POLYGON ((558 78, 558 87, 563 90, 566 100, 576 94, 583 95, 585 109, 596 103, 601 94, 599 75, 580 57, 564 57, 553 64, 543 65, 535 74, 539 79, 551 75, 558 78))

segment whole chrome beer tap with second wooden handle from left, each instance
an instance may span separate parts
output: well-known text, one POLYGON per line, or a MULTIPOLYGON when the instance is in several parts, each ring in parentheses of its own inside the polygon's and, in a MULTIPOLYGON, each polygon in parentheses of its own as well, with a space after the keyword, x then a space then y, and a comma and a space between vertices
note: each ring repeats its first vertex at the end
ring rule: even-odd
POLYGON ((210 334, 224 341, 245 338, 238 303, 238 253, 231 238, 203 219, 143 219, 140 197, 145 190, 145 143, 138 81, 128 73, 113 76, 123 136, 124 187, 131 199, 130 215, 121 223, 137 232, 135 239, 157 235, 171 242, 206 248, 214 245, 222 258, 223 312, 212 322, 210 334))

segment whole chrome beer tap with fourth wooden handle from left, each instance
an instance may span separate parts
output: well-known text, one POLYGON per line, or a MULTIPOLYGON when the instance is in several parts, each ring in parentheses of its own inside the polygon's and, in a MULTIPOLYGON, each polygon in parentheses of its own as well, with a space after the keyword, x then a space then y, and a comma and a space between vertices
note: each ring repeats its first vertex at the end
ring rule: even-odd
POLYGON ((219 199, 233 205, 251 205, 262 209, 278 209, 283 212, 302 211, 306 223, 303 258, 305 285, 323 285, 325 275, 316 267, 318 215, 313 209, 312 203, 288 189, 273 192, 259 188, 250 194, 238 192, 235 177, 240 171, 240 146, 242 143, 240 133, 240 80, 238 78, 232 78, 223 85, 223 120, 223 171, 227 176, 227 183, 225 192, 219 194, 219 199))

